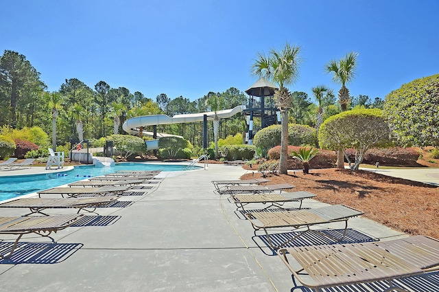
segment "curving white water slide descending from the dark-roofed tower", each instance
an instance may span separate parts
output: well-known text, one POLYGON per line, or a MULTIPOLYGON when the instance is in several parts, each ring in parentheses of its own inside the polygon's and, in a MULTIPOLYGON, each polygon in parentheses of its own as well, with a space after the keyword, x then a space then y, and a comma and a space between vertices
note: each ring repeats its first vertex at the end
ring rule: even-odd
MULTIPOLYGON (((245 105, 235 106, 233 109, 224 109, 222 111, 217 111, 217 116, 221 119, 226 119, 232 117, 237 113, 241 113, 246 109, 245 105)), ((130 135, 139 134, 139 127, 141 126, 154 126, 163 124, 181 124, 181 123, 191 123, 191 122, 203 122, 204 115, 207 116, 207 120, 213 120, 215 117, 214 111, 209 111, 207 113, 187 113, 182 115, 174 115, 174 117, 169 117, 167 115, 141 115, 139 117, 132 117, 126 120, 123 125, 123 131, 130 135)), ((143 135, 152 136, 152 132, 143 132, 143 135)), ((157 133, 157 137, 169 137, 175 136, 165 133, 157 133)), ((146 141, 146 146, 148 150, 158 149, 158 140, 146 141)))

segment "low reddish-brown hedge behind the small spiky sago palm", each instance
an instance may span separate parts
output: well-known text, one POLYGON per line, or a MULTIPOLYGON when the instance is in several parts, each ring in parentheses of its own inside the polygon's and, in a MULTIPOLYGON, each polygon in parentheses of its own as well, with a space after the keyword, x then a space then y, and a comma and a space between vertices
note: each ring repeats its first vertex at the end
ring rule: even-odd
MULTIPOLYGON (((302 169, 303 164, 299 159, 292 157, 292 151, 298 152, 300 146, 288 146, 288 169, 302 169)), ((319 149, 319 154, 309 161, 309 168, 333 168, 337 162, 337 155, 331 150, 319 149)), ((281 157, 281 146, 276 146, 268 151, 269 159, 279 159, 281 157)))

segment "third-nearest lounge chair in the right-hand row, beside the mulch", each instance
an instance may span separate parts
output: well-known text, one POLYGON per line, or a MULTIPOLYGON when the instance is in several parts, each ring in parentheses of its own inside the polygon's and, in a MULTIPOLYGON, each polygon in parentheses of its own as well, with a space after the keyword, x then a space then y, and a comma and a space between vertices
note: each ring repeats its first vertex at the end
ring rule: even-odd
POLYGON ((311 192, 288 192, 287 194, 232 194, 230 201, 237 205, 237 209, 241 208, 244 211, 244 206, 250 203, 270 203, 264 209, 269 207, 283 207, 286 202, 300 202, 299 209, 302 207, 304 199, 313 198, 316 194, 311 192))

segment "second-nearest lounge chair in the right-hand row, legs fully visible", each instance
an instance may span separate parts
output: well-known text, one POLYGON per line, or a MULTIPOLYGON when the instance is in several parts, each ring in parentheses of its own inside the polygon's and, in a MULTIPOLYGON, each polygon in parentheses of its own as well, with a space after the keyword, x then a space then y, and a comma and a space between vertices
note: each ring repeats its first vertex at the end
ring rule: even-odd
MULTIPOLYGON (((322 225, 327 223, 341 222, 344 221, 344 232, 342 238, 333 238, 337 240, 342 240, 346 235, 346 229, 348 229, 348 219, 359 216, 363 212, 355 210, 351 207, 345 205, 329 205, 327 207, 320 207, 316 209, 309 210, 294 210, 294 211, 279 211, 279 212, 248 212, 245 216, 248 218, 250 223, 254 228, 254 232, 263 229, 267 235, 267 240, 273 249, 279 249, 285 246, 287 243, 291 242, 298 236, 305 234, 305 232, 316 232, 318 234, 323 234, 318 232, 318 230, 310 229, 313 225, 322 225), (303 232, 300 232, 297 236, 285 240, 281 245, 274 245, 270 238, 268 229, 271 228, 281 228, 281 227, 292 227, 293 229, 298 229, 301 227, 307 227, 303 232)), ((327 234, 323 234, 328 236, 327 234)))

